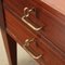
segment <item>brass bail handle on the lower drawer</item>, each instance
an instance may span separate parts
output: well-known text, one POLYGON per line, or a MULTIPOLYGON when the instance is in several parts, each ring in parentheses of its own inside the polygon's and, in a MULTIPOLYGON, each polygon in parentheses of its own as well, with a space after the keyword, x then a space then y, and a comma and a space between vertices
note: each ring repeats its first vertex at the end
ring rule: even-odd
POLYGON ((38 56, 35 56, 35 55, 34 55, 29 50, 27 50, 27 48, 26 48, 26 47, 29 47, 29 44, 30 44, 34 40, 35 40, 34 38, 32 38, 32 39, 26 39, 26 40, 25 40, 25 44, 23 44, 23 48, 24 48, 24 50, 26 50, 26 52, 28 52, 28 54, 29 54, 31 57, 38 60, 38 58, 40 58, 42 55, 40 54, 40 55, 38 55, 38 56))

